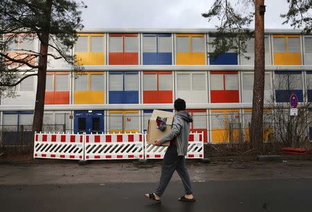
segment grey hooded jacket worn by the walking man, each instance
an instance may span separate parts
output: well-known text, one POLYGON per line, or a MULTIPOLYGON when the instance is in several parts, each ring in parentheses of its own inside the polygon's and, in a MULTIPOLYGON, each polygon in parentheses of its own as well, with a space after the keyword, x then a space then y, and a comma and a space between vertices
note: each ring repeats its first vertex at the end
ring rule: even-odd
POLYGON ((193 118, 189 113, 185 111, 177 112, 173 117, 171 132, 162 137, 160 142, 166 143, 176 139, 177 155, 186 156, 189 143, 189 125, 191 122, 193 122, 193 118))

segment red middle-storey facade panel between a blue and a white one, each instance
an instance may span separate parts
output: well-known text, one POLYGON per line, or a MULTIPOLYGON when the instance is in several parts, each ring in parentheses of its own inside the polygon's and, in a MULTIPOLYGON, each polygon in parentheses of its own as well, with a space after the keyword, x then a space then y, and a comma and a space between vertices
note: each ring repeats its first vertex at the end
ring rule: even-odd
POLYGON ((172 91, 143 91, 143 103, 172 102, 172 91))

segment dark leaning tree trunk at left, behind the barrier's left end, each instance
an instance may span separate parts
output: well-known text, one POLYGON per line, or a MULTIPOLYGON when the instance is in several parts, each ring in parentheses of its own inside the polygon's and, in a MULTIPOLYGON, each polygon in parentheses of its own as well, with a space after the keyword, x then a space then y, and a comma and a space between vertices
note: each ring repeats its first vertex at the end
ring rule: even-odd
MULTIPOLYGON (((46 93, 46 66, 48 56, 48 44, 49 44, 49 31, 51 21, 51 8, 52 0, 46 1, 46 10, 42 18, 45 19, 46 23, 43 28, 40 40, 40 56, 39 56, 39 68, 37 73, 37 94, 35 100, 35 112, 33 116, 33 138, 35 132, 42 131, 42 121, 44 115, 44 96, 46 93)), ((32 142, 33 143, 33 142, 32 142)))

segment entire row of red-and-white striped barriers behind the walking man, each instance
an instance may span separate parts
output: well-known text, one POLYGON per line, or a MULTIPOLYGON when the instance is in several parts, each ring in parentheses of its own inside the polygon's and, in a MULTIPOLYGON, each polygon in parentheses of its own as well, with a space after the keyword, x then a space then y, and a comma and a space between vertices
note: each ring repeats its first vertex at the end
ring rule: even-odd
MULTIPOLYGON (((204 134, 190 133, 188 159, 204 157, 204 134)), ((163 159, 166 146, 146 143, 146 134, 36 133, 34 158, 51 159, 163 159)))

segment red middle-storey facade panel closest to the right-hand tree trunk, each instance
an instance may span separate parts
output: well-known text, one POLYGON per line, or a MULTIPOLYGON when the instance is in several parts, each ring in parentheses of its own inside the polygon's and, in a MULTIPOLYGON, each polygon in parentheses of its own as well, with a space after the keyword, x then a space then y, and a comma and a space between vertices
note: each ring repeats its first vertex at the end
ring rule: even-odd
POLYGON ((239 103, 239 91, 211 91, 211 103, 239 103))

